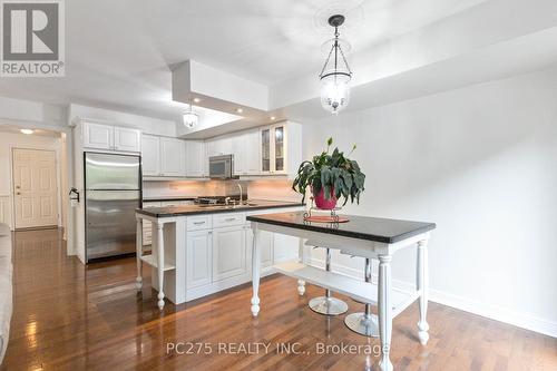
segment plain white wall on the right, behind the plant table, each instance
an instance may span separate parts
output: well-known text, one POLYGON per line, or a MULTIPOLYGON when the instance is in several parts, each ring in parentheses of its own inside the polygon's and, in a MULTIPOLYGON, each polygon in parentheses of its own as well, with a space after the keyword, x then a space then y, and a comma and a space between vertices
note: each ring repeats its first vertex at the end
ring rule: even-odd
POLYGON ((367 174, 345 213, 437 223, 432 300, 557 336, 557 68, 304 125, 304 157, 329 136, 367 174))

